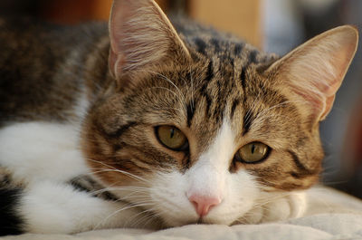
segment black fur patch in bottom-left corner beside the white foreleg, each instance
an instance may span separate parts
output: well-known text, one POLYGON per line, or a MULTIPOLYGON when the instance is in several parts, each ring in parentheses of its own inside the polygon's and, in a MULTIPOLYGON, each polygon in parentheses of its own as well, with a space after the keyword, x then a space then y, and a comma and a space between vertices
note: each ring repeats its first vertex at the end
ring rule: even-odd
POLYGON ((21 235, 24 220, 17 215, 22 190, 20 188, 0 188, 0 235, 21 235))

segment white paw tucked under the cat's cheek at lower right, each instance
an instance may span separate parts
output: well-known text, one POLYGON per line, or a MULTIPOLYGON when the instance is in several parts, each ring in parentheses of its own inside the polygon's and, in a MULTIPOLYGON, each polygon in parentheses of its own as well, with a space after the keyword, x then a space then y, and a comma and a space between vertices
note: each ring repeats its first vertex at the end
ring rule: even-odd
POLYGON ((244 224, 259 224, 300 217, 307 208, 305 192, 291 192, 264 198, 255 205, 241 221, 244 224))

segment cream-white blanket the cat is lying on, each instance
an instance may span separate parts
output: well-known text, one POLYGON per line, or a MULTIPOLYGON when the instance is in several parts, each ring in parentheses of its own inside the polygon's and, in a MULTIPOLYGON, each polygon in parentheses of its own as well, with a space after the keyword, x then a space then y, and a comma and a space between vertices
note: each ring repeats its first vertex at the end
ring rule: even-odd
POLYGON ((327 187, 308 191, 306 216, 262 225, 190 225, 152 232, 140 229, 98 230, 78 235, 18 235, 14 240, 252 240, 362 239, 362 201, 327 187))

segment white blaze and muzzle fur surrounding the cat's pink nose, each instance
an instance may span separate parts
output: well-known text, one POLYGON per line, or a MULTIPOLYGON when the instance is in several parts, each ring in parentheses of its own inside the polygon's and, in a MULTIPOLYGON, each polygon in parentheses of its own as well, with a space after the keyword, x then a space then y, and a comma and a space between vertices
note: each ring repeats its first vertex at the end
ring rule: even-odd
POLYGON ((150 189, 151 198, 167 226, 199 220, 195 206, 188 199, 192 195, 221 200, 203 216, 205 223, 230 225, 252 208, 260 194, 256 181, 243 169, 236 173, 229 171, 237 148, 234 138, 231 124, 224 120, 213 143, 185 174, 176 170, 157 174, 150 189))

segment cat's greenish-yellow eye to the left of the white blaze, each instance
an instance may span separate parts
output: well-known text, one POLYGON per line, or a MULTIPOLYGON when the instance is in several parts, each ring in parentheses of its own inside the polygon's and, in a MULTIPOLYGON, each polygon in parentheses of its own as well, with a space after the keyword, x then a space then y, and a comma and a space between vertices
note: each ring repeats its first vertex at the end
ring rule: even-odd
POLYGON ((168 149, 181 151, 188 148, 188 141, 185 134, 174 126, 158 126, 156 128, 158 141, 168 149))

